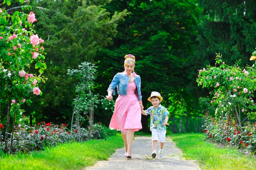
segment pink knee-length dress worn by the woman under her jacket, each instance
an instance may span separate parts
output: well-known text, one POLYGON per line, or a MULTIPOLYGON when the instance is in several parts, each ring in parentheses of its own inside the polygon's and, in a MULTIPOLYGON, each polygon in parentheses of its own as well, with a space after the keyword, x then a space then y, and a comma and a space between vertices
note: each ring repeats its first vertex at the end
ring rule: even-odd
POLYGON ((135 82, 128 83, 127 95, 119 95, 115 101, 115 111, 110 120, 110 129, 126 134, 127 129, 139 131, 141 125, 141 109, 135 94, 135 82))

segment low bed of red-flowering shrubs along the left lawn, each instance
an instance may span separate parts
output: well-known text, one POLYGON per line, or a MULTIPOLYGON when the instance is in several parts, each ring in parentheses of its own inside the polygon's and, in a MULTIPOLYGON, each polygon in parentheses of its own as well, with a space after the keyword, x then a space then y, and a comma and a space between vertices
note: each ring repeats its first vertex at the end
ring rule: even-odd
MULTIPOLYGON (((8 148, 11 148, 11 153, 27 153, 65 142, 106 139, 107 136, 115 135, 115 133, 116 131, 111 131, 102 124, 93 124, 88 129, 80 128, 79 130, 69 131, 67 124, 56 125, 40 122, 32 127, 23 123, 15 127, 13 142, 11 142, 11 138, 8 140, 8 148), (78 131, 80 131, 80 138, 78 131)), ((4 142, 2 142, 2 139, 0 141, 3 150, 4 142)))

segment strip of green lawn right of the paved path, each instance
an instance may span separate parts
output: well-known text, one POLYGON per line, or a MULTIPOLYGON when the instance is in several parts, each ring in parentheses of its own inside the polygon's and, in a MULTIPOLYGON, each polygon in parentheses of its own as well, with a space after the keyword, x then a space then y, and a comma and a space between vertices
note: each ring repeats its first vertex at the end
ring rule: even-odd
POLYGON ((202 170, 255 170, 256 158, 236 148, 217 147, 202 133, 172 134, 171 139, 183 151, 184 158, 198 161, 202 170))

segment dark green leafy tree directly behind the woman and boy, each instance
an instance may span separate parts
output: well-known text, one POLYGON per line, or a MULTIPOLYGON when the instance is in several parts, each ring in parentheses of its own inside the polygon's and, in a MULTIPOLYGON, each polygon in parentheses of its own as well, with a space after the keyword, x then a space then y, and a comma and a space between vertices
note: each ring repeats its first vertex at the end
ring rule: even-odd
MULTIPOLYGON (((152 91, 160 92, 164 97, 163 104, 168 107, 171 105, 171 101, 167 100, 168 95, 184 90, 181 95, 189 103, 186 108, 188 114, 196 113, 191 109, 194 105, 190 105, 191 100, 194 103, 194 98, 187 97, 186 84, 190 81, 186 70, 190 67, 184 67, 193 52, 197 35, 195 26, 199 22, 201 8, 196 1, 128 0, 123 3, 112 0, 106 9, 110 13, 127 9, 130 15, 119 23, 113 44, 97 52, 97 91, 106 94, 107 82, 111 82, 117 72, 124 70, 124 56, 133 54, 136 57, 135 72, 141 76, 144 107, 150 106, 146 96, 152 91)), ((142 124, 148 127, 147 117, 142 116, 142 124)))

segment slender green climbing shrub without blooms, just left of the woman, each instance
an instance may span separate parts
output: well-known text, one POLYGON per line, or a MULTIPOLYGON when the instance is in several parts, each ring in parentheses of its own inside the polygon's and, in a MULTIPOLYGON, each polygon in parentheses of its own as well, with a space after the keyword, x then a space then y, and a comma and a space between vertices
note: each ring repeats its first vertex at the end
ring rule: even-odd
POLYGON ((99 98, 103 96, 92 93, 94 80, 97 77, 96 68, 92 63, 83 62, 79 65, 78 70, 67 70, 67 75, 71 76, 77 82, 76 99, 74 101, 74 112, 72 116, 72 120, 74 119, 76 122, 74 125, 76 128, 79 128, 81 122, 85 122, 87 117, 90 118, 90 124, 93 124, 94 107, 97 107, 100 101, 103 108, 114 111, 114 101, 109 102, 106 98, 100 100, 99 98))

